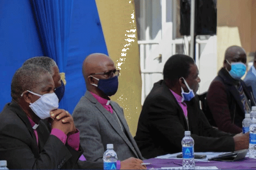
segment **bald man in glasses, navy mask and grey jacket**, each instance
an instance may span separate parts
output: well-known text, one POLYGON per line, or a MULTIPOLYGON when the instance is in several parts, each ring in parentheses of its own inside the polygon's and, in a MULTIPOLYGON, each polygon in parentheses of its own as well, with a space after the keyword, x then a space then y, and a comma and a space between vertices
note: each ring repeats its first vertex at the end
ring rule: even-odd
POLYGON ((87 91, 72 116, 80 131, 85 158, 102 162, 107 144, 113 144, 121 161, 117 162, 117 168, 145 169, 122 108, 109 98, 118 88, 119 70, 114 62, 105 54, 90 54, 84 59, 82 72, 87 91))

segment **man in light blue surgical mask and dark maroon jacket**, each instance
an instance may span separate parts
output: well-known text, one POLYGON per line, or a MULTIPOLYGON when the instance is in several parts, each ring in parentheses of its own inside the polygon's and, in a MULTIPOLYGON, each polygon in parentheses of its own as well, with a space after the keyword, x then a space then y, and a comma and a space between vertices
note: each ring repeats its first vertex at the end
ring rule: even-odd
POLYGON ((255 103, 241 80, 246 71, 244 49, 236 45, 227 48, 223 64, 210 84, 207 103, 219 130, 240 133, 244 115, 250 113, 255 103))

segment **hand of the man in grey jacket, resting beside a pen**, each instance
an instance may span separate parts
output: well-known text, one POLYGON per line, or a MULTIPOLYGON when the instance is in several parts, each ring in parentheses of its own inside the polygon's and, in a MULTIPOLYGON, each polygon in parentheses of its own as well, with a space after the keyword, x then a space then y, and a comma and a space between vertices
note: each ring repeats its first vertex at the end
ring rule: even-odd
POLYGON ((146 165, 142 165, 142 160, 137 158, 128 158, 120 162, 121 163, 121 170, 145 170, 146 165))

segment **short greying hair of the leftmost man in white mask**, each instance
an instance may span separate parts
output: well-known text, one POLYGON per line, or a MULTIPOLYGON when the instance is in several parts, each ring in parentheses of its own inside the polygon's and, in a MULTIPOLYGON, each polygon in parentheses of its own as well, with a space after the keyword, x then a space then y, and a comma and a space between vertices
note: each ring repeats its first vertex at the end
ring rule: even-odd
POLYGON ((26 64, 17 69, 12 77, 12 99, 18 102, 21 97, 20 95, 26 90, 31 91, 36 88, 45 74, 49 74, 49 71, 34 64, 26 64))

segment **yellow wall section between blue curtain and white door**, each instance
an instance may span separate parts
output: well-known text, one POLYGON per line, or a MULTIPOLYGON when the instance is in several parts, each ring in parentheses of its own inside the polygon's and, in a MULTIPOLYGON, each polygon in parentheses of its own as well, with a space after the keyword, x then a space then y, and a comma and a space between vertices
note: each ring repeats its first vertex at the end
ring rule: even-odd
POLYGON ((119 87, 111 100, 123 108, 135 136, 141 111, 140 56, 133 0, 96 0, 108 54, 120 70, 119 87))

